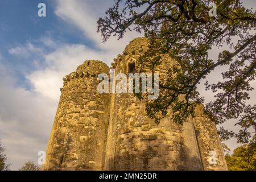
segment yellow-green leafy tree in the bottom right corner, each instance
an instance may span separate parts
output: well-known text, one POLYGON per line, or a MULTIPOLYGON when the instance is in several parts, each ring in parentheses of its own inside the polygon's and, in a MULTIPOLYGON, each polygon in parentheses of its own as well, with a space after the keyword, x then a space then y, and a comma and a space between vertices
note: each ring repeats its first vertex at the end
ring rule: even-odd
POLYGON ((225 155, 230 171, 256 171, 256 143, 237 147, 232 155, 225 155))

